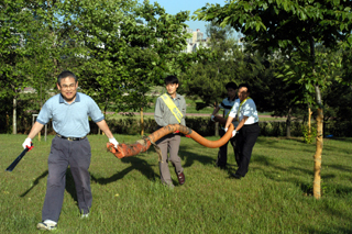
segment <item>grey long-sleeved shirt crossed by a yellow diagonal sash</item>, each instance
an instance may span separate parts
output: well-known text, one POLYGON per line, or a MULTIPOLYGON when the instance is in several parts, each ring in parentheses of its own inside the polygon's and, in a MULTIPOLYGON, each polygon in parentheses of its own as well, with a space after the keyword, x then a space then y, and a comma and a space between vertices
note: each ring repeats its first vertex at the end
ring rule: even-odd
MULTIPOLYGON (((167 93, 168 94, 168 93, 167 93)), ((168 124, 180 124, 186 125, 186 100, 183 96, 176 93, 176 98, 170 99, 174 101, 175 105, 178 108, 178 110, 183 113, 183 119, 180 123, 177 121, 173 112, 168 109, 168 107, 165 104, 163 99, 158 97, 156 99, 155 103, 155 111, 154 111, 154 119, 160 126, 166 126, 168 124)))

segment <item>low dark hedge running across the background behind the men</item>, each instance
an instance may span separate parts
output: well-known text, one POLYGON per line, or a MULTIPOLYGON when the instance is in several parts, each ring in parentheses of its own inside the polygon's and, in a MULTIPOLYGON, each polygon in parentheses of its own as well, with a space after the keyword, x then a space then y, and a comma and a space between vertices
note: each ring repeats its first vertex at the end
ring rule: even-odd
MULTIPOLYGON (((11 115, 8 119, 6 115, 1 118, 1 133, 12 132, 12 120, 11 115), (8 125, 9 124, 9 125, 8 125)), ((135 118, 119 119, 119 120, 107 120, 107 123, 114 134, 130 134, 135 135, 141 133, 141 122, 135 118)), ((98 134, 98 126, 95 122, 90 121, 90 134, 98 134)), ((215 135, 215 124, 209 121, 208 116, 187 116, 186 124, 189 129, 196 131, 201 136, 213 136, 215 135)), ((305 137, 305 130, 302 129, 305 123, 302 122, 292 122, 290 134, 292 136, 302 136, 305 137)), ((28 134, 32 126, 32 113, 21 112, 18 119, 18 133, 28 134)), ((261 136, 286 136, 286 122, 279 121, 265 121, 260 122, 261 136)), ((329 121, 324 123, 324 135, 333 135, 337 137, 350 137, 352 136, 351 121, 329 121)), ((144 119, 144 133, 148 135, 157 130, 157 124, 153 118, 144 119)), ((52 123, 47 125, 48 134, 55 134, 52 123)), ((316 129, 312 129, 312 137, 315 137, 316 129)), ((44 129, 42 130, 44 134, 44 129)))

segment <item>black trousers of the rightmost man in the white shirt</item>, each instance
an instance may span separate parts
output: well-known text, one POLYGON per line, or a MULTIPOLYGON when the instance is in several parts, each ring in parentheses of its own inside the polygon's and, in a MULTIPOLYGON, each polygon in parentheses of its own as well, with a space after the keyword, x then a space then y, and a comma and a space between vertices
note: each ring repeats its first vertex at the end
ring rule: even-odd
POLYGON ((239 131, 237 138, 237 147, 239 151, 239 168, 237 170, 237 175, 242 177, 249 171, 250 160, 252 156, 252 151, 254 144, 256 142, 257 136, 260 135, 260 125, 258 123, 254 123, 251 125, 243 125, 239 131))

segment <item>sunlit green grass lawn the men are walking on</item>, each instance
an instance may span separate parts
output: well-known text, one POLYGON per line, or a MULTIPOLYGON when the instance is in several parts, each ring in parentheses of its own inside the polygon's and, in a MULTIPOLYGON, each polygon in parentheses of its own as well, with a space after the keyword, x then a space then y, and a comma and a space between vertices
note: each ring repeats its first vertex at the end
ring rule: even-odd
MULTIPOLYGON (((120 143, 140 138, 116 136, 120 143)), ((41 221, 53 136, 47 142, 35 138, 34 149, 12 172, 4 171, 24 138, 0 135, 0 233, 41 233, 35 225, 41 221)), ((237 168, 232 154, 229 170, 220 170, 213 167, 217 148, 183 137, 179 156, 186 183, 174 190, 160 182, 154 149, 118 159, 106 152, 106 136, 91 135, 89 141, 91 215, 79 219, 68 172, 54 233, 352 233, 351 138, 324 141, 320 200, 310 196, 315 145, 300 140, 260 137, 249 174, 234 180, 229 178, 237 168)))

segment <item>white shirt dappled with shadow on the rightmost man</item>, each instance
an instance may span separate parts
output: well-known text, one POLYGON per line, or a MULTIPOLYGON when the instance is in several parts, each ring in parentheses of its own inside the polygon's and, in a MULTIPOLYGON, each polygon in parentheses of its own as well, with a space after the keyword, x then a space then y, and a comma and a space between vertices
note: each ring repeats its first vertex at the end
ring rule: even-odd
MULTIPOLYGON (((240 108, 241 101, 237 99, 234 101, 233 108, 230 111, 229 116, 235 118, 240 108)), ((239 113, 239 121, 243 119, 243 116, 248 116, 249 119, 244 122, 244 125, 257 123, 260 121, 257 116, 256 105, 253 99, 248 99, 241 107, 239 113)))

